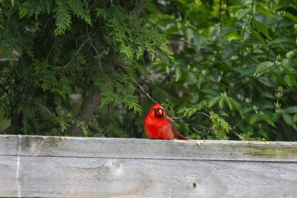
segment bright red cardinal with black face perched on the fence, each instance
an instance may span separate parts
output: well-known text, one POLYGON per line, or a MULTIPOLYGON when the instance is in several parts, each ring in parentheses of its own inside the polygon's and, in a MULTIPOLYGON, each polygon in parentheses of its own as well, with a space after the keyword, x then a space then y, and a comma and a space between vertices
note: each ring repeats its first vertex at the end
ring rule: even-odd
POLYGON ((149 111, 144 122, 145 131, 149 139, 189 140, 175 130, 173 120, 166 116, 164 107, 156 103, 149 111))

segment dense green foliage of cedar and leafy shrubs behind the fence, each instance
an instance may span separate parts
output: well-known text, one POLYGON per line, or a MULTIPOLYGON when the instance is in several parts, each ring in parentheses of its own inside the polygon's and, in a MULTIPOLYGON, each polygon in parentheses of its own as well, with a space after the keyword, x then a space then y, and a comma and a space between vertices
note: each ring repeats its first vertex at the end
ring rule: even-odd
POLYGON ((144 138, 136 80, 190 139, 297 141, 297 0, 0 0, 0 58, 3 134, 144 138))

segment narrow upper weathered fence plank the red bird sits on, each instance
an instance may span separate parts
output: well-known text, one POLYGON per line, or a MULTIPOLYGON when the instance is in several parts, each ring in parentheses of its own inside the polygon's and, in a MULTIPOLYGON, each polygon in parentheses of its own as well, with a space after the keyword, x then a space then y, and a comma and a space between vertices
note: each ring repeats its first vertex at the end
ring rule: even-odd
POLYGON ((20 156, 297 162, 297 143, 0 135, 0 155, 17 156, 18 154, 20 156))

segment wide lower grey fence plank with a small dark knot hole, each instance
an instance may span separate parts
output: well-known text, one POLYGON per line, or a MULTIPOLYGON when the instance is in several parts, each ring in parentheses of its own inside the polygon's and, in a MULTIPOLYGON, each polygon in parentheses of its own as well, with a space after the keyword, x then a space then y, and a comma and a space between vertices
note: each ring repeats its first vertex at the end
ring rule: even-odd
POLYGON ((297 196, 292 162, 21 156, 17 164, 17 156, 0 156, 0 197, 297 196))

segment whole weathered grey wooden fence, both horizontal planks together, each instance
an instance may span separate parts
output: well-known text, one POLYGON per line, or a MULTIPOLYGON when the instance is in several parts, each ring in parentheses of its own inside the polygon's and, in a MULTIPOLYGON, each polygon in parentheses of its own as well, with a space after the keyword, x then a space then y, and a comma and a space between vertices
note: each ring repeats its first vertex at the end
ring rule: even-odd
POLYGON ((0 197, 297 198, 297 143, 0 135, 0 197))

